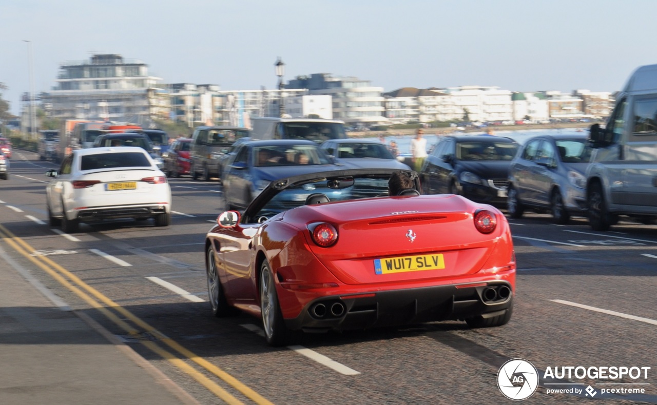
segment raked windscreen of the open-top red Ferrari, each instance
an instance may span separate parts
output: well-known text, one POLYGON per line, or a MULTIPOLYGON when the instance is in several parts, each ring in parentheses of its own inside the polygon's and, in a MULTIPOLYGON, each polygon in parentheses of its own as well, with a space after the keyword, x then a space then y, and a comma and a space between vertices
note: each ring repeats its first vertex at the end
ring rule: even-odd
POLYGON ((262 219, 262 217, 270 218, 273 215, 288 209, 306 205, 306 199, 308 196, 316 193, 324 194, 331 202, 387 196, 388 179, 390 179, 388 175, 376 177, 353 177, 353 186, 338 189, 328 188, 328 181, 326 179, 292 186, 276 194, 274 198, 269 200, 269 202, 267 202, 267 204, 265 204, 265 206, 254 215, 251 221, 256 222, 258 219, 262 219))

